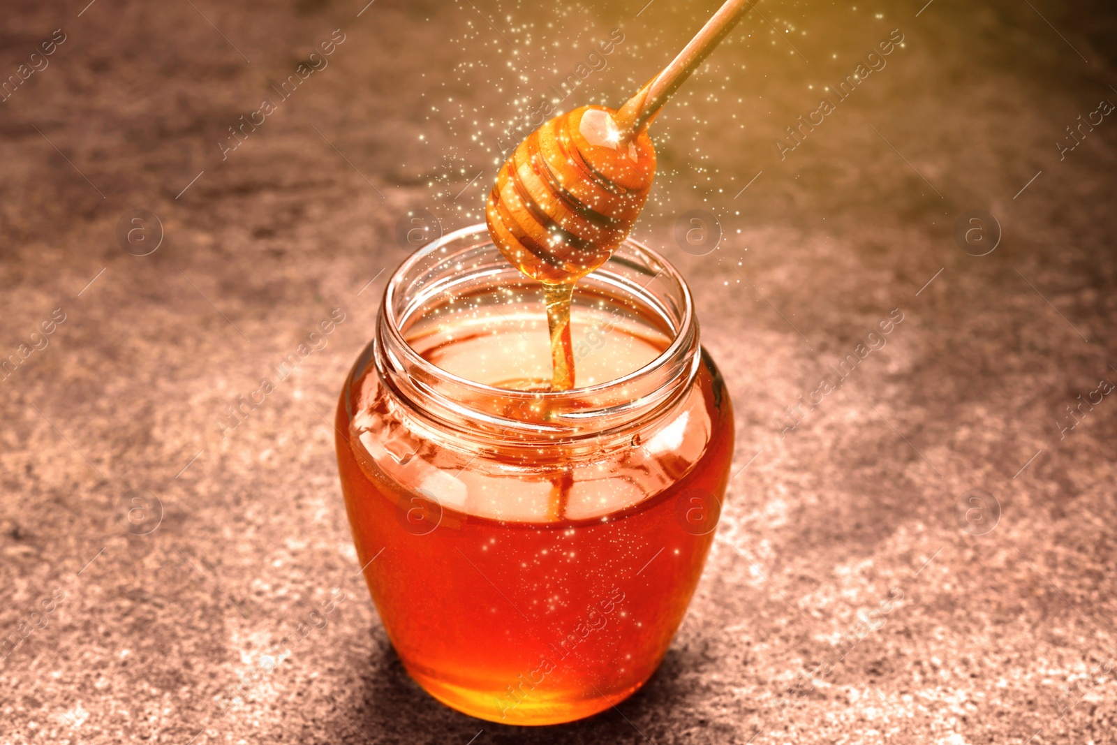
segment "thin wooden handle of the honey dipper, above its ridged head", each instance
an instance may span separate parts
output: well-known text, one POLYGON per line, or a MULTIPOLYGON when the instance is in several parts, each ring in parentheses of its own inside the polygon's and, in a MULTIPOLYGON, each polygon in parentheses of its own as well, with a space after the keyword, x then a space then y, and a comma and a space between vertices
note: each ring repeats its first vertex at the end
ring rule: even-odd
POLYGON ((621 142, 629 142, 636 136, 756 2, 757 0, 726 0, 670 65, 617 109, 613 120, 620 131, 621 142))

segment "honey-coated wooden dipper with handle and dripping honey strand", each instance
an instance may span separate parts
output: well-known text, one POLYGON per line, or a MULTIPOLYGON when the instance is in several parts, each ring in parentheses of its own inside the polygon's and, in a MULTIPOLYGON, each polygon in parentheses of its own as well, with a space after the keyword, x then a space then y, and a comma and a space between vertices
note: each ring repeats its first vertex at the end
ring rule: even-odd
POLYGON ((553 391, 574 385, 574 283, 612 256, 648 200, 648 125, 756 0, 727 0, 682 51, 619 109, 582 106, 545 122, 500 168, 485 208, 493 241, 543 283, 553 391))

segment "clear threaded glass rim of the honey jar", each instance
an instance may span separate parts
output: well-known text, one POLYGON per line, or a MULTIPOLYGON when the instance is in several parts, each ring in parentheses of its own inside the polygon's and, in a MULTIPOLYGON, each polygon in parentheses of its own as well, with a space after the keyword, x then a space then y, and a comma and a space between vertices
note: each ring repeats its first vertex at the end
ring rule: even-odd
MULTIPOLYGON (((686 388, 696 373, 697 357, 699 356, 696 354, 696 351, 699 347, 690 288, 678 269, 667 259, 632 238, 627 238, 618 247, 609 261, 601 269, 591 274, 590 277, 596 277, 596 280, 605 284, 617 284, 619 289, 633 292, 632 286, 626 285, 627 280, 619 280, 620 275, 610 275, 608 271, 610 262, 620 262, 629 269, 638 269, 646 274, 651 274, 653 269, 655 274, 648 281, 642 286, 636 285, 639 288, 636 293, 642 293, 641 299, 648 302, 651 307, 660 309, 661 316, 663 315, 661 312, 662 304, 652 302, 652 296, 648 287, 652 283, 663 279, 669 281, 670 302, 676 307, 676 313, 672 315, 677 317, 667 318, 670 323, 670 343, 653 360, 619 378, 565 391, 505 389, 461 378, 439 367, 426 360, 408 343, 401 329, 401 324, 407 323, 410 314, 413 313, 413 308, 409 309, 407 297, 408 283, 413 279, 412 275, 417 270, 421 270, 423 264, 429 262, 432 255, 456 243, 461 243, 465 248, 493 247, 495 249, 488 233, 488 228, 484 222, 455 230, 431 241, 408 257, 395 269, 385 286, 380 308, 380 318, 378 321, 376 346, 386 348, 376 350, 376 365, 381 367, 382 373, 385 372, 384 366, 391 367, 392 370, 388 372, 394 372, 395 374, 392 376, 402 386, 410 388, 409 383, 417 384, 422 394, 430 395, 432 393, 430 390, 432 382, 437 381, 439 384, 449 384, 452 388, 452 394, 436 398, 441 399, 440 403, 443 408, 449 407, 456 410, 458 414, 469 418, 477 418, 479 414, 486 412, 478 412, 467 405, 456 407, 455 404, 462 404, 464 401, 486 399, 513 402, 542 401, 545 402, 551 412, 561 412, 552 419, 550 424, 522 422, 521 420, 507 420, 497 417, 500 420, 498 426, 504 431, 507 431, 509 426, 512 429, 517 429, 515 427, 516 423, 529 424, 537 432, 547 431, 554 437, 561 433, 573 433, 570 431, 572 428, 584 430, 586 420, 593 418, 602 420, 599 424, 604 423, 604 420, 617 419, 617 417, 620 417, 622 420, 642 419, 640 416, 641 412, 658 409, 667 398, 674 399, 672 395, 668 394, 677 392, 675 389, 686 388), (602 273, 602 269, 605 271, 602 273), (682 378, 685 380, 680 380, 682 378), (648 381, 648 383, 640 384, 645 381, 648 381), (680 386, 680 383, 685 383, 685 385, 680 386), (630 398, 626 394, 632 391, 639 395, 630 398), (562 405, 564 402, 573 403, 575 401, 581 402, 581 405, 571 405, 569 408, 562 405), (605 405, 586 407, 586 401, 605 402, 605 405)), ((509 264, 508 266, 510 267, 512 265, 509 264)), ((400 385, 397 385, 397 388, 400 388, 400 385)), ((408 395, 407 398, 411 397, 408 395)), ((424 413, 431 413, 429 407, 421 408, 424 413)), ((438 416, 437 418, 442 419, 443 417, 438 416)), ((481 416, 481 419, 486 418, 481 416)), ((594 429, 598 428, 594 427, 594 429)))

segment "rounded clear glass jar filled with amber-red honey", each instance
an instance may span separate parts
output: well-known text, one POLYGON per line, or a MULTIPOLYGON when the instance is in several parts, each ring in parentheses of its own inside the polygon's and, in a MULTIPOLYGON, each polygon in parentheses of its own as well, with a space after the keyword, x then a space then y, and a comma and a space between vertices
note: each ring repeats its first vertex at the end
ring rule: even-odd
POLYGON ((628 240, 577 284, 575 388, 543 294, 484 225, 409 258, 337 407, 364 576, 408 672, 483 719, 545 725, 655 672, 701 574, 733 412, 690 293, 628 240))

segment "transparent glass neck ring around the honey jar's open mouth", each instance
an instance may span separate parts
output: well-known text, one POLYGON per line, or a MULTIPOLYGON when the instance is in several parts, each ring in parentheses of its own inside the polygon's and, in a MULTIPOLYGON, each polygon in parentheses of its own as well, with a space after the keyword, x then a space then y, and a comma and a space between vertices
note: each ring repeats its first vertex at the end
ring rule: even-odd
MULTIPOLYGON (((447 371, 427 360, 408 341, 408 328, 448 292, 459 290, 469 283, 496 284, 497 275, 507 275, 509 270, 523 283, 538 285, 519 275, 493 243, 487 226, 478 223, 447 233, 416 251, 388 281, 378 324, 378 365, 388 369, 383 372, 393 379, 395 388, 418 389, 424 399, 422 404, 437 404, 419 405, 424 412, 449 408, 456 414, 480 418, 483 424, 494 423, 504 431, 521 426, 536 432, 558 432, 571 426, 581 429, 580 421, 615 419, 615 416, 630 419, 624 412, 637 416, 649 407, 658 408, 680 383, 689 383, 697 370, 697 324, 690 290, 670 262, 631 238, 602 267, 579 280, 575 294, 592 286, 603 295, 624 296, 653 318, 666 347, 636 370, 564 391, 516 390, 447 371), (468 266, 461 268, 462 265, 468 266), (427 397, 433 400, 426 400, 427 397), (522 421, 518 417, 509 420, 507 403, 515 407, 517 401, 542 403, 550 412, 548 421, 522 421), (484 402, 493 402, 491 408, 484 402)), ((543 307, 538 312, 541 318, 545 317, 543 307)), ((402 392, 413 400, 408 390, 402 392)), ((433 413, 445 418, 442 411, 433 413)))

